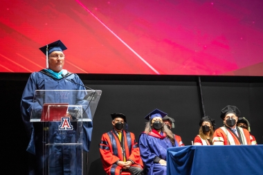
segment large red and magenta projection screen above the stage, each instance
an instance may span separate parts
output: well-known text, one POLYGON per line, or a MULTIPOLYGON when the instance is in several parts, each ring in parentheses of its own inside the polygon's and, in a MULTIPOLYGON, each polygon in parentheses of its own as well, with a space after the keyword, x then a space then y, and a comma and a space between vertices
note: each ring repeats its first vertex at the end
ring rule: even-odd
POLYGON ((263 75, 262 0, 1 0, 0 72, 263 75))

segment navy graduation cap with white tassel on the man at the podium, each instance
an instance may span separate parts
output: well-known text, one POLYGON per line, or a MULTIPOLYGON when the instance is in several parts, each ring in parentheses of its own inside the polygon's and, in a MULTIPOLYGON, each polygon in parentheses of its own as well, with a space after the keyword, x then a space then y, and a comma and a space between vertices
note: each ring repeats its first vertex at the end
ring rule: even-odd
POLYGON ((39 50, 46 55, 46 68, 48 68, 48 55, 53 53, 53 51, 62 52, 66 50, 66 46, 60 40, 57 40, 51 44, 46 44, 46 46, 39 48, 39 50))

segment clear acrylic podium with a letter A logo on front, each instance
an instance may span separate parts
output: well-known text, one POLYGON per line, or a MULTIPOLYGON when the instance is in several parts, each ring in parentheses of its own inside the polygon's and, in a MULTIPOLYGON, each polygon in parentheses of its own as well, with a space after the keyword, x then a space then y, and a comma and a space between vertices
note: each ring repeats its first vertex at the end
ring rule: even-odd
POLYGON ((42 137, 41 142, 35 143, 40 154, 37 156, 41 156, 42 165, 38 166, 42 174, 83 174, 82 148, 87 144, 83 138, 87 138, 88 131, 84 127, 92 122, 101 93, 98 90, 35 91, 30 122, 35 135, 42 137))

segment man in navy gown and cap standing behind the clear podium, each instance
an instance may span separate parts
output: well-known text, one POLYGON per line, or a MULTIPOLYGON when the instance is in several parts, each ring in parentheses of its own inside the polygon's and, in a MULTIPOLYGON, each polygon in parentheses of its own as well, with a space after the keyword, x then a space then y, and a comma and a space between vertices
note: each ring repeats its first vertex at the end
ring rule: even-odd
MULTIPOLYGON (((65 55, 63 50, 66 50, 66 46, 58 40, 51 44, 39 48, 44 55, 46 55, 46 68, 39 72, 34 72, 30 75, 24 93, 21 98, 21 117, 26 126, 28 138, 30 139, 26 151, 30 153, 30 167, 29 174, 45 174, 44 173, 44 161, 43 155, 43 130, 46 129, 40 122, 30 122, 31 110, 33 107, 33 98, 36 90, 86 90, 80 77, 74 73, 70 73, 63 69, 65 55)), ((51 95, 50 95, 51 96, 51 95)), ((47 97, 54 98, 54 97, 47 97)), ((71 104, 76 104, 74 99, 71 100, 71 104)), ((63 101, 62 101, 63 102, 63 101)), ((41 106, 41 105, 40 105, 41 106)), ((87 110, 89 111, 89 110, 87 110)), ((87 117, 89 114, 87 114, 87 117)), ((53 122, 49 127, 50 135, 52 139, 61 139, 60 136, 51 133, 58 128, 58 122, 53 122)), ((83 151, 89 151, 89 145, 91 142, 92 122, 83 122, 83 151)), ((71 166, 74 163, 70 162, 69 158, 72 156, 74 150, 64 149, 64 147, 52 146, 56 156, 56 160, 49 162, 49 168, 55 169, 49 174, 77 174, 77 172, 71 172, 71 166)), ((46 153, 48 154, 48 152, 46 153)), ((78 166, 78 165, 77 165, 78 166)), ((80 167, 81 168, 81 167, 80 167)))

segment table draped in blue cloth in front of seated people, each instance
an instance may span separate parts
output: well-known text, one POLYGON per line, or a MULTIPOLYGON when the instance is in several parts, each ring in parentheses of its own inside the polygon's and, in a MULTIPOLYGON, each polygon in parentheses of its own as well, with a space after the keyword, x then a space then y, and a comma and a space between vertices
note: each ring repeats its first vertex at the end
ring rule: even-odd
POLYGON ((263 145, 185 146, 167 149, 167 175, 263 174, 263 145))

